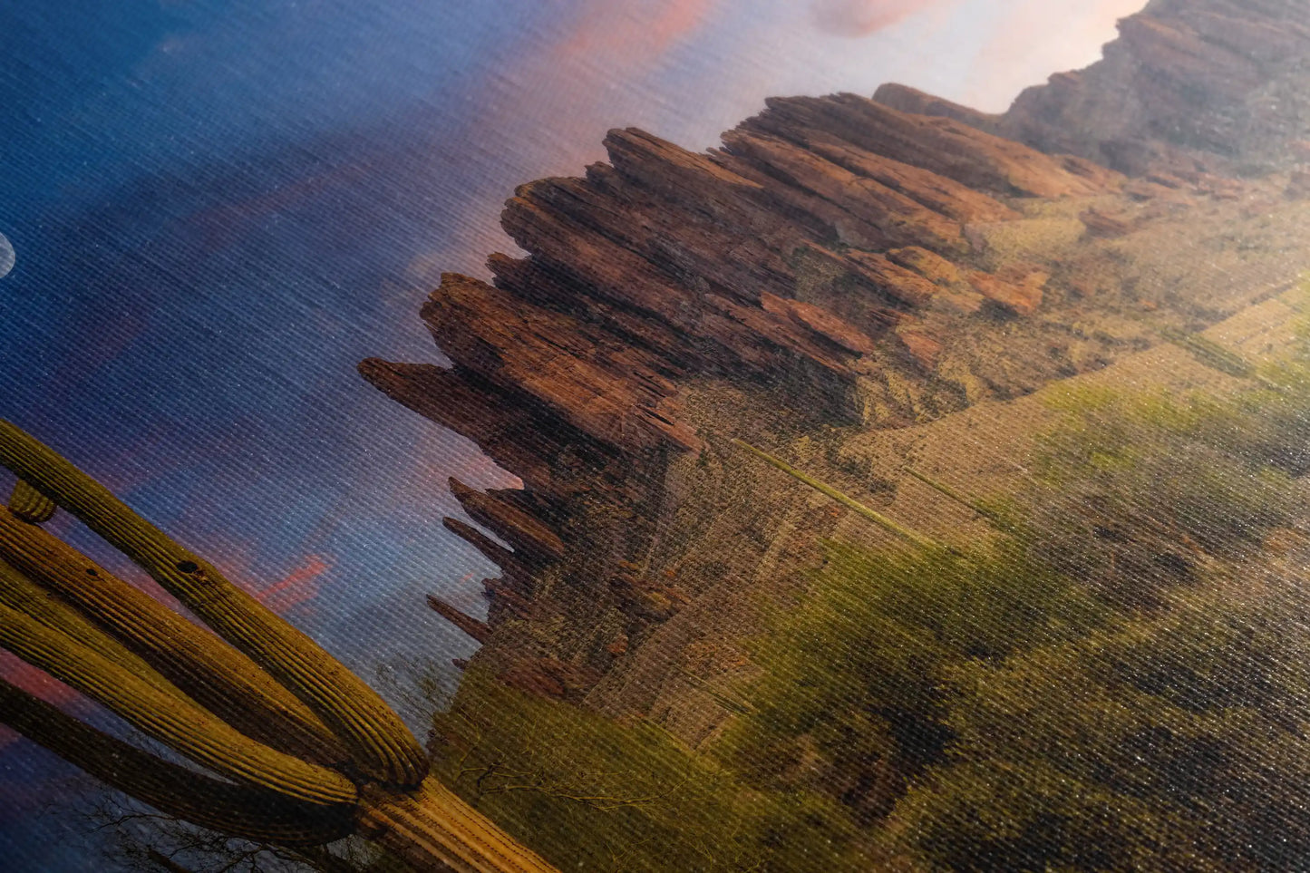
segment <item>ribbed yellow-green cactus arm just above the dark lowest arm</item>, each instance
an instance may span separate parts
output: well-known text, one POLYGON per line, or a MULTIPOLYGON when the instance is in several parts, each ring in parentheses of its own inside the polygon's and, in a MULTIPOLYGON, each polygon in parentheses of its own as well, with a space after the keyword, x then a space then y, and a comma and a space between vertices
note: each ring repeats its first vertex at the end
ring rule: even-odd
POLYGON ((324 806, 352 804, 356 798, 355 786, 341 773, 257 743, 190 699, 134 676, 5 604, 0 604, 0 646, 223 776, 324 806))

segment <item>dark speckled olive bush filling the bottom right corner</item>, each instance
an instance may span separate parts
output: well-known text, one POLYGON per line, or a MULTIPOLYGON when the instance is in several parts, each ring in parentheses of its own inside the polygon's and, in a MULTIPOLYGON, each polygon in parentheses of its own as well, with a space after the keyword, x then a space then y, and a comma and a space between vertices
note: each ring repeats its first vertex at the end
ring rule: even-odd
POLYGON ((952 678, 888 839, 933 869, 1288 870, 1310 856, 1305 595, 1188 596, 952 678))

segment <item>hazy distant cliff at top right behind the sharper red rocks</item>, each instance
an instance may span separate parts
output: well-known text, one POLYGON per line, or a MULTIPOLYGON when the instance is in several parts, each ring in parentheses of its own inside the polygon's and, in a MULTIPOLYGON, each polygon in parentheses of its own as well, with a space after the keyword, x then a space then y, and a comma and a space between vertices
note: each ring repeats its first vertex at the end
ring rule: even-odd
POLYGON ((1255 172, 1305 160, 1310 5, 1151 0, 1104 58, 1030 88, 1003 115, 889 85, 878 100, 1125 173, 1255 172))

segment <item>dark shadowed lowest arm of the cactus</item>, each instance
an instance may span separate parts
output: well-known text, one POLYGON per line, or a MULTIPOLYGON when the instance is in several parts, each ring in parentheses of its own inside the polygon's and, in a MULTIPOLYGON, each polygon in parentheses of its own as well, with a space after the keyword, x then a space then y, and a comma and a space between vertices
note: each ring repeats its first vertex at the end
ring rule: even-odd
POLYGON ((352 807, 325 809, 165 762, 0 680, 0 722, 110 788, 193 824, 278 845, 318 845, 352 830, 352 807))

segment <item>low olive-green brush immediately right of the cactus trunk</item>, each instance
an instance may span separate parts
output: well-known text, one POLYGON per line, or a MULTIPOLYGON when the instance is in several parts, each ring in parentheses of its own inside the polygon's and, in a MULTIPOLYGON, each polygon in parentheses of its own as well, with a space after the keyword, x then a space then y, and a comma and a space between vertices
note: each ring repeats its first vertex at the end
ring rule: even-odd
POLYGON ((816 793, 761 792, 648 722, 465 676, 434 725, 444 781, 561 869, 834 869, 854 828, 816 793))

